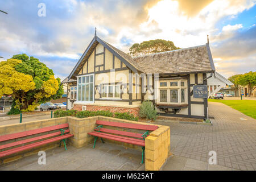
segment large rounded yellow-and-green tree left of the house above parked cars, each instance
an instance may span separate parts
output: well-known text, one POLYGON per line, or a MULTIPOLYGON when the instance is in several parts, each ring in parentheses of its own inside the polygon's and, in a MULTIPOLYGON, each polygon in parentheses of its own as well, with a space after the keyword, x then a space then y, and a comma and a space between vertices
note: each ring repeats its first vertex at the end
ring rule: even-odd
POLYGON ((11 95, 15 108, 32 111, 36 106, 63 95, 60 78, 35 57, 14 55, 0 62, 0 96, 11 95))

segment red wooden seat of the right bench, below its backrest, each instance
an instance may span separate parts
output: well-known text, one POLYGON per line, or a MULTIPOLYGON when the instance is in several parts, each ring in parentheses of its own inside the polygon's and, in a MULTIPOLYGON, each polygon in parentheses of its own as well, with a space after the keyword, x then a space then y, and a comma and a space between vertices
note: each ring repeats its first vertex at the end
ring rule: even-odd
POLYGON ((101 138, 115 140, 115 141, 118 141, 118 142, 125 142, 125 143, 135 144, 137 146, 143 146, 143 147, 145 146, 144 140, 132 139, 132 138, 121 137, 121 136, 111 135, 111 134, 104 134, 104 133, 100 133, 100 132, 97 132, 97 131, 93 131, 93 132, 90 132, 88 134, 93 135, 95 137, 101 137, 101 138))

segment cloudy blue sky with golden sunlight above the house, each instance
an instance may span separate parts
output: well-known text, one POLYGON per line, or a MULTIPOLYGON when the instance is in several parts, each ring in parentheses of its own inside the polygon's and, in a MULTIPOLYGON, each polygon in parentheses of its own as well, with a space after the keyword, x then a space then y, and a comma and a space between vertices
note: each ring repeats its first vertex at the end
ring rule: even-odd
POLYGON ((226 78, 256 71, 256 0, 0 0, 0 61, 26 53, 63 80, 97 36, 128 53, 164 39, 186 48, 207 43, 226 78), (42 9, 45 5, 45 14, 42 9), (43 16, 42 16, 43 14, 43 16), (45 15, 45 16, 44 16, 45 15))

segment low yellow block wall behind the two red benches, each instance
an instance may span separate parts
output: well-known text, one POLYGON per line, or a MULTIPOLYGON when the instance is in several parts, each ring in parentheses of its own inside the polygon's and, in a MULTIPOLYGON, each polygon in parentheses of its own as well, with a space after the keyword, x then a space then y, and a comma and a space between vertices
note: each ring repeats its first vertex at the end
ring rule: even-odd
MULTIPOLYGON (((54 126, 54 125, 60 125, 63 123, 69 123, 70 133, 74 134, 74 137, 68 138, 68 143, 74 147, 81 148, 93 142, 94 138, 92 136, 89 136, 88 133, 94 130, 94 127, 96 127, 97 120, 122 122, 122 123, 138 123, 142 125, 154 125, 151 123, 129 121, 125 119, 110 118, 110 117, 103 117, 103 116, 95 116, 95 117, 89 117, 89 118, 63 117, 63 118, 44 119, 44 120, 34 121, 34 122, 0 126, 0 136, 6 135, 6 134, 18 133, 21 131, 39 129, 47 126, 54 126)), ((155 131, 152 131, 150 133, 150 136, 146 138, 146 146, 145 146, 146 170, 159 170, 164 164, 164 162, 167 160, 168 154, 170 153, 170 127, 162 126, 162 125, 157 125, 157 126, 159 128, 156 129, 155 131)), ((109 126, 108 128, 117 129, 116 127, 109 127, 109 126)), ((119 130, 131 131, 136 133, 145 132, 144 130, 123 129, 123 128, 119 130)), ((52 132, 56 132, 56 131, 52 131, 52 132)), ((33 135, 32 137, 35 137, 35 135, 33 135)), ((28 136, 27 138, 32 138, 32 137, 28 136)), ((135 146, 133 144, 121 143, 121 142, 116 142, 116 141, 107 140, 107 139, 104 139, 104 140, 106 140, 106 142, 121 144, 125 147, 134 148, 136 150, 142 151, 141 147, 135 146)), ((0 145, 14 142, 14 141, 15 140, 0 142, 0 145)), ((10 156, 6 156, 5 158, 0 158, 0 165, 13 162, 14 160, 18 160, 24 156, 37 154, 40 150, 46 151, 50 148, 54 148, 57 146, 59 146, 59 141, 55 143, 46 144, 41 147, 33 148, 31 150, 19 152, 17 154, 13 154, 10 156)))

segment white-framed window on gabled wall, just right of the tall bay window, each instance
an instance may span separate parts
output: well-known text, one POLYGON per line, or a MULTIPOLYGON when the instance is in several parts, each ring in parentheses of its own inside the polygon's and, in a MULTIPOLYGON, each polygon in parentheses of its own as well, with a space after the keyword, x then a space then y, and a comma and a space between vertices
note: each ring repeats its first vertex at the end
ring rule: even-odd
POLYGON ((102 98, 120 98, 120 85, 102 85, 102 98))

